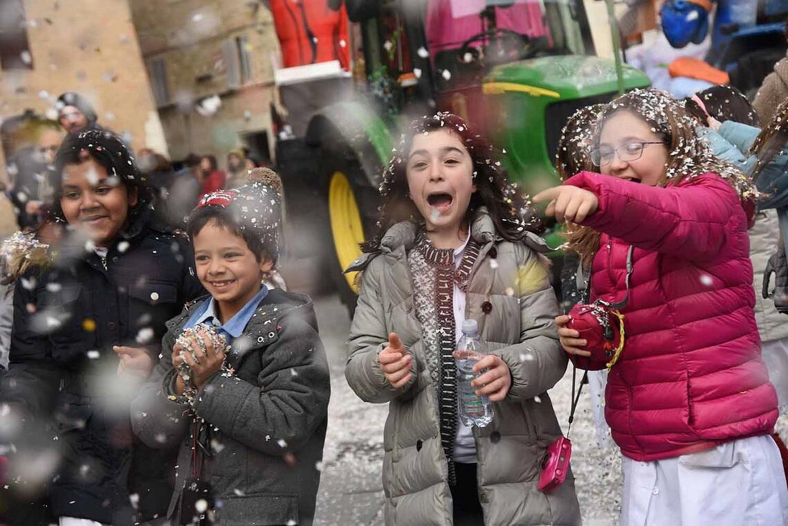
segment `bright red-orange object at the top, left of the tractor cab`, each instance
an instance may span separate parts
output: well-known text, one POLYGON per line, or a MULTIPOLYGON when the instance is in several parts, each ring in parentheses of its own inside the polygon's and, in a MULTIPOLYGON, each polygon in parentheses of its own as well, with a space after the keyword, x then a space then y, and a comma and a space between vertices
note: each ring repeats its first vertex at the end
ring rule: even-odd
POLYGON ((338 60, 342 69, 348 69, 350 42, 344 5, 334 11, 328 0, 270 0, 270 8, 285 68, 338 60))

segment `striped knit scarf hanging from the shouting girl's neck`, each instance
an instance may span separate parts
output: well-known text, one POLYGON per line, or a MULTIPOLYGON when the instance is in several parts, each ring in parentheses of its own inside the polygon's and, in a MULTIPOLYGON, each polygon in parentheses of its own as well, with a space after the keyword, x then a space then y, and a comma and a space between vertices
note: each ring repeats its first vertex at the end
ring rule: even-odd
POLYGON ((455 350, 454 285, 466 292, 470 269, 481 246, 471 237, 455 269, 454 249, 435 248, 420 233, 408 263, 414 285, 416 318, 422 324, 422 341, 429 375, 437 391, 440 442, 448 461, 448 479, 456 482, 454 440, 457 432, 457 377, 455 350))

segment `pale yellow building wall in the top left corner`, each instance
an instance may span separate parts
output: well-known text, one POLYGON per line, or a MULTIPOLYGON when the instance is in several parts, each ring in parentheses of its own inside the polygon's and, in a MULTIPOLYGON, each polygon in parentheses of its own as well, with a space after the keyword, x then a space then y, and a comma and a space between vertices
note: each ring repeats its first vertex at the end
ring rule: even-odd
POLYGON ((51 116, 58 95, 77 91, 99 124, 125 132, 132 147, 166 151, 128 0, 22 3, 33 67, 0 71, 0 117, 26 109, 51 116))

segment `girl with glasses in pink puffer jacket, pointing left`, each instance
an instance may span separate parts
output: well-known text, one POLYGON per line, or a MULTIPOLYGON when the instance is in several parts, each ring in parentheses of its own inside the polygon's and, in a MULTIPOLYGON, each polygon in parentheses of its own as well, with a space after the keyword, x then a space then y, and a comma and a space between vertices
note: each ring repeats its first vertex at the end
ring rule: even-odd
MULTIPOLYGON (((712 156, 663 91, 622 95, 600 122, 592 159, 604 174, 578 173, 534 199, 602 233, 591 299, 629 298, 605 406, 624 455, 621 524, 785 524, 768 436, 777 397, 753 315, 751 182, 712 156)), ((561 345, 588 356, 568 322, 556 319, 561 345)))

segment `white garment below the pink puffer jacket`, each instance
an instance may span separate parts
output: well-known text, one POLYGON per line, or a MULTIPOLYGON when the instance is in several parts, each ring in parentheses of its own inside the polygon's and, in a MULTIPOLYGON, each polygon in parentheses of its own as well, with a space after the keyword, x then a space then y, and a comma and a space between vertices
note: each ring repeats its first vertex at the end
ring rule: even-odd
POLYGON ((783 526, 788 487, 771 436, 662 461, 624 457, 619 526, 783 526))

